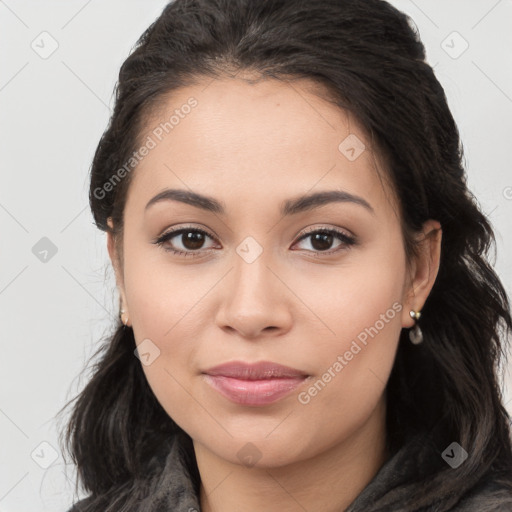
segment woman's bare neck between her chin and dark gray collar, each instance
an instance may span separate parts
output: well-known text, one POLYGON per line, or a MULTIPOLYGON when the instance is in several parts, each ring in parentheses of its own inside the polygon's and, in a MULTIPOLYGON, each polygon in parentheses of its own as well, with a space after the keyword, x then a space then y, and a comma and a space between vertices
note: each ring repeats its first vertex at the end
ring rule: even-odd
POLYGON ((194 441, 202 512, 339 512, 356 499, 389 454, 385 402, 350 437, 313 458, 278 467, 246 467, 194 441))

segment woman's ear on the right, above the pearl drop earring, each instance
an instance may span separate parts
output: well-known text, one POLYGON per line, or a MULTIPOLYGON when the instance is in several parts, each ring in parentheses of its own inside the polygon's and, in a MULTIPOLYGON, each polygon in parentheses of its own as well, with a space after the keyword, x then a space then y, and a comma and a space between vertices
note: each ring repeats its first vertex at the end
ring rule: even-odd
POLYGON ((411 263, 411 274, 404 290, 404 309, 402 326, 413 327, 415 320, 411 318, 411 310, 420 311, 434 286, 441 260, 441 224, 429 219, 423 224, 418 236, 418 256, 411 263))

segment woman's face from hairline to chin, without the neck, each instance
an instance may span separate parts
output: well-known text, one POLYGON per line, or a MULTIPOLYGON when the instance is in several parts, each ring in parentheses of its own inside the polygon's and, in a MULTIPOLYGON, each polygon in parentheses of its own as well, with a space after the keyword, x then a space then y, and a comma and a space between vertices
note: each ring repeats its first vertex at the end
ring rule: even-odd
MULTIPOLYGON (((225 79, 174 92, 141 137, 151 147, 125 206, 118 284, 149 385, 195 442, 237 464, 241 449, 258 465, 305 460, 361 431, 382 410, 400 330, 421 306, 407 302, 377 155, 308 85, 225 79), (217 209, 151 202, 171 189, 217 209), (338 200, 297 202, 323 192, 338 200), (261 361, 302 377, 205 375, 261 361)), ((111 239, 109 250, 115 261, 111 239)))

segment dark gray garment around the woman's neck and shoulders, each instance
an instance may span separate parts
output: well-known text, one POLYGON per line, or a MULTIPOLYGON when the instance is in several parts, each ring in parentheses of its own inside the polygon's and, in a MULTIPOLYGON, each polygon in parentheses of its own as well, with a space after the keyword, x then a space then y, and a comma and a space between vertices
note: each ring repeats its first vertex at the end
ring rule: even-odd
MULTIPOLYGON (((200 512, 199 497, 194 491, 188 469, 180 456, 180 448, 180 438, 177 437, 166 457, 164 470, 151 478, 146 497, 138 503, 136 511, 133 512, 200 512)), ((419 477, 433 461, 432 457, 436 456, 440 457, 439 452, 429 448, 423 438, 416 437, 410 440, 385 462, 344 512, 412 512, 410 507, 397 508, 391 503, 396 502, 399 497, 411 495, 411 489, 405 489, 405 484, 414 480, 416 476, 419 477)), ((79 501, 68 512, 81 512, 81 505, 89 501, 90 498, 79 501)), ((421 512, 511 512, 512 493, 500 489, 491 482, 466 493, 452 508, 445 507, 446 505, 442 506, 439 503, 431 504, 422 508, 421 512)), ((124 509, 118 512, 124 512, 124 509)))

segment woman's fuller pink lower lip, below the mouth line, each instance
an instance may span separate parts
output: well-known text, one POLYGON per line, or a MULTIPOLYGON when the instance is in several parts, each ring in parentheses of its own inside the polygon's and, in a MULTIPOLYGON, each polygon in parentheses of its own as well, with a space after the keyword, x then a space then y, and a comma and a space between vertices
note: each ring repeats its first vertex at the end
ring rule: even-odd
POLYGON ((242 380, 208 374, 204 378, 221 395, 241 405, 271 404, 291 393, 306 380, 306 377, 242 380))

